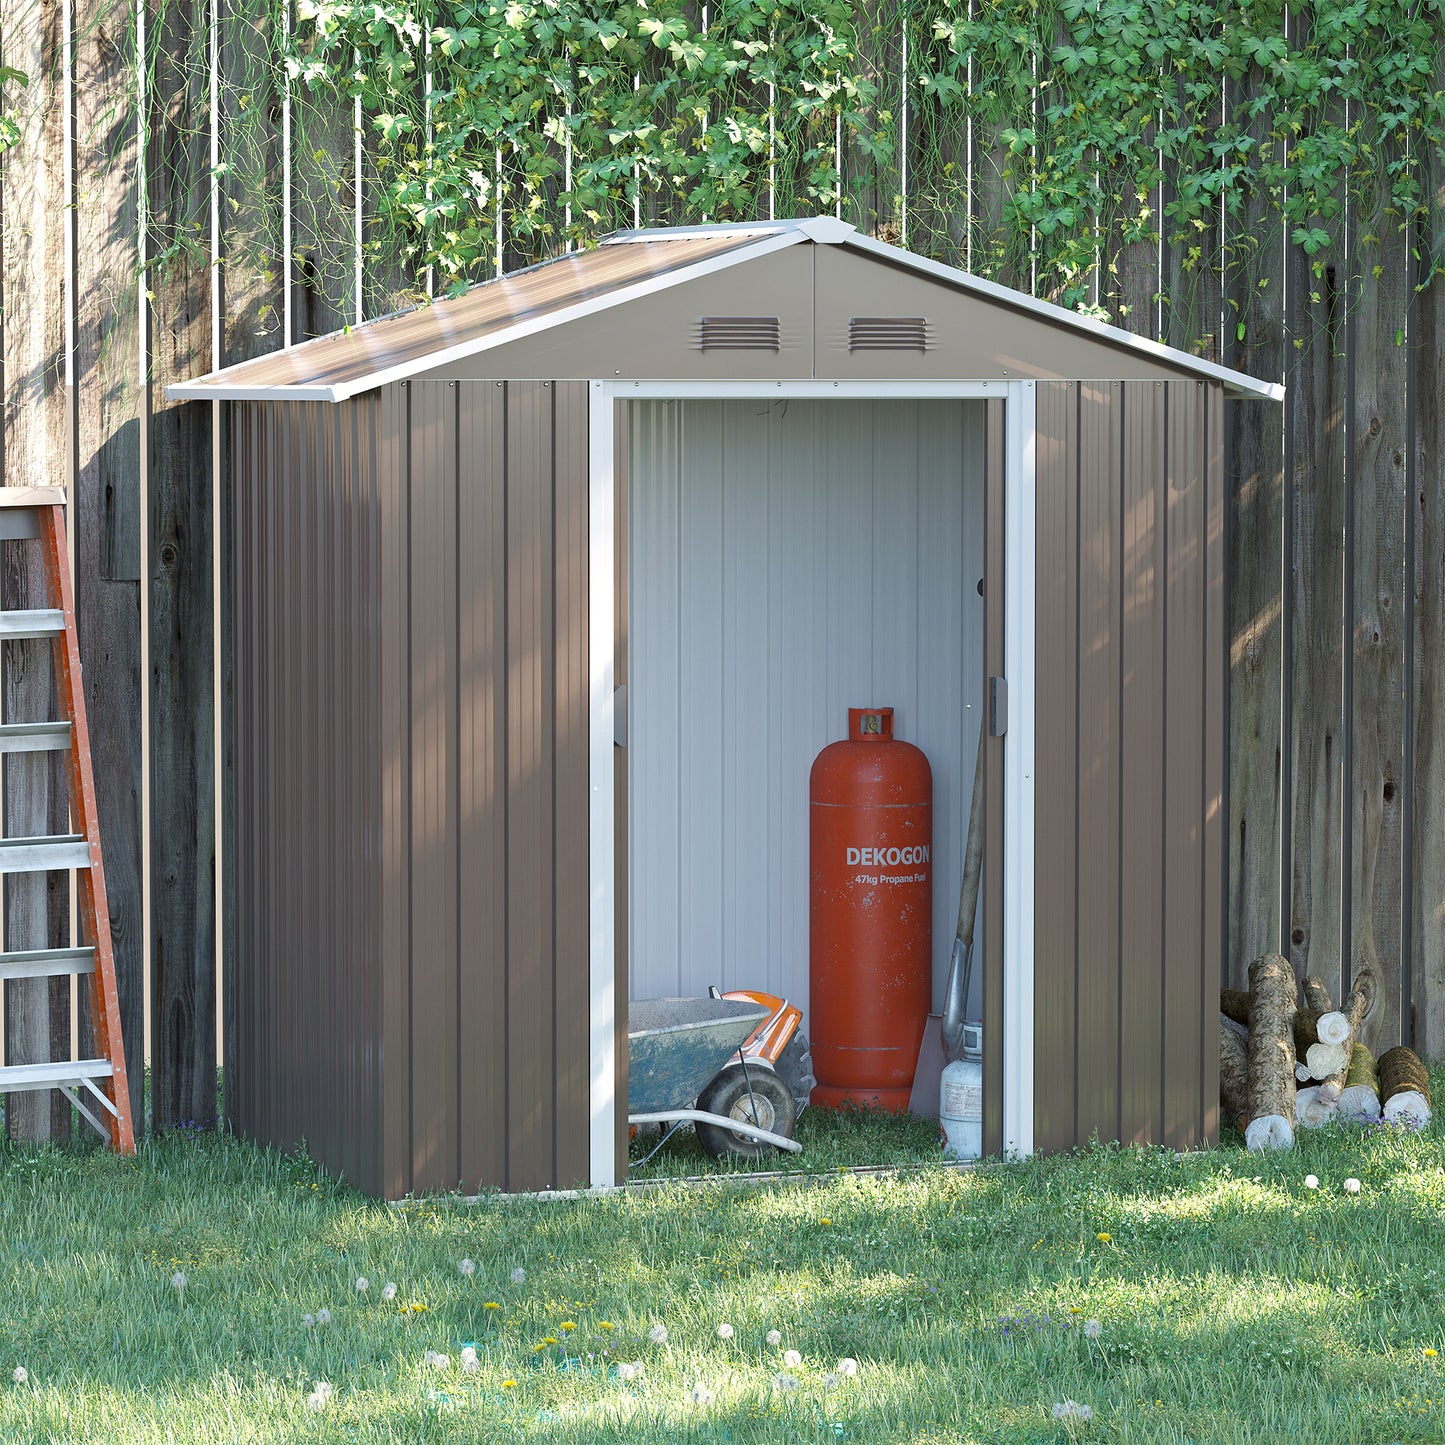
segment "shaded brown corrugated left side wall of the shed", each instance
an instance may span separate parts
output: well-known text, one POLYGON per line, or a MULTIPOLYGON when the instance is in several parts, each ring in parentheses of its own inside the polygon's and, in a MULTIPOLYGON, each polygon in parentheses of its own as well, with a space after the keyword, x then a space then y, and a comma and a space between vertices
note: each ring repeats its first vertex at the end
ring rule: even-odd
POLYGON ((230 1066, 246 1133, 379 1189, 374 431, 370 399, 236 415, 230 1066))

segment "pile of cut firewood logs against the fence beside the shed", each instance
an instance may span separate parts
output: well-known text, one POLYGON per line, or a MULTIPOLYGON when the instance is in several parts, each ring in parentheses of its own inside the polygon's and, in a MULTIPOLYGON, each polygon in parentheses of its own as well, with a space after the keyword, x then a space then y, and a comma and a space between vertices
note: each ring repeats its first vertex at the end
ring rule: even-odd
POLYGON ((1220 1104, 1251 1150, 1290 1149, 1298 1129, 1379 1118, 1431 1121, 1431 1081, 1419 1055, 1379 1061, 1360 1042, 1379 988, 1361 971, 1340 1007, 1318 978, 1295 980, 1289 959, 1250 964, 1250 987, 1220 990, 1220 1104))

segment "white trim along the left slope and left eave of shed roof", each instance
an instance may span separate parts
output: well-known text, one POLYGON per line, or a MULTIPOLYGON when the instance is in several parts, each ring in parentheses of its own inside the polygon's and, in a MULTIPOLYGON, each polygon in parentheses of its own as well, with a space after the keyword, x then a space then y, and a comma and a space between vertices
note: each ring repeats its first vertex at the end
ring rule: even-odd
MULTIPOLYGON (((756 230, 757 227, 741 227, 743 233, 756 230)), ((682 230, 679 234, 695 233, 682 230)), ((436 367, 462 361, 467 357, 490 351, 493 347, 520 341, 525 337, 536 335, 539 331, 549 331, 552 327, 561 327, 569 321, 595 315, 600 311, 610 311, 613 306, 621 306, 629 301, 652 296, 659 290, 696 280, 712 272, 727 270, 743 262, 757 260, 772 251, 798 246, 806 238, 802 231, 793 227, 775 227, 770 231, 764 231, 756 246, 740 246, 737 250, 708 256, 704 260, 694 262, 691 266, 679 266, 676 270, 666 272, 662 276, 646 276, 627 286, 618 286, 605 295, 590 296, 587 301, 579 301, 571 306, 561 306, 540 316, 529 316, 526 321, 519 321, 510 327, 500 327, 488 335, 462 341, 454 347, 442 347, 438 351, 429 351, 419 360, 399 361, 396 366, 381 367, 364 376, 338 381, 334 386, 318 386, 315 383, 296 383, 293 386, 228 386, 224 381, 225 371, 223 370, 211 371, 208 376, 197 377, 194 381, 176 381, 166 387, 166 397, 173 402, 345 402, 353 396, 360 396, 363 392, 374 392, 379 386, 389 386, 392 381, 405 381, 419 371, 434 371, 436 367)), ((506 280, 507 277, 501 279, 506 280)), ((331 338, 318 337, 316 340, 325 341, 331 338)), ((302 345, 314 344, 314 341, 302 342, 302 345)), ((299 348, 292 347, 292 351, 296 350, 299 348)))

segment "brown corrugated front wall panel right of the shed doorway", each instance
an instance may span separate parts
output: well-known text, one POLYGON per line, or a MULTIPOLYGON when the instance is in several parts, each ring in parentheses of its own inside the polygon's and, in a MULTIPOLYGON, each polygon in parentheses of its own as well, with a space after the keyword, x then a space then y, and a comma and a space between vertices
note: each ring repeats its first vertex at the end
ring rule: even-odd
POLYGON ((1043 1149, 1217 1130, 1220 406, 1194 381, 1038 389, 1043 1149))

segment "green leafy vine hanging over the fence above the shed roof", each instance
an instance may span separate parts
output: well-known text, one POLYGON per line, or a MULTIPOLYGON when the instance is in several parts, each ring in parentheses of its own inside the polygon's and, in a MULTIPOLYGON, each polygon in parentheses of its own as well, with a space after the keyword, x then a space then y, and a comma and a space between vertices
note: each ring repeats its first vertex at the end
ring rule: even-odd
POLYGON ((1243 340, 1283 247, 1324 276, 1347 217, 1353 263, 1403 233, 1442 269, 1439 0, 299 0, 269 33, 338 293, 357 101, 379 296, 634 217, 834 208, 1185 345, 1218 348, 1221 290, 1243 340))

